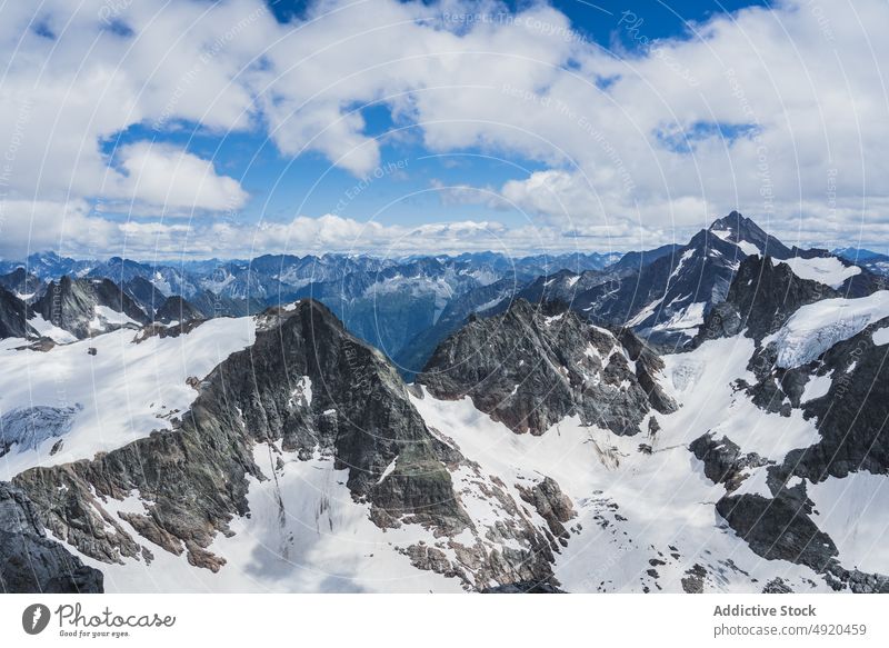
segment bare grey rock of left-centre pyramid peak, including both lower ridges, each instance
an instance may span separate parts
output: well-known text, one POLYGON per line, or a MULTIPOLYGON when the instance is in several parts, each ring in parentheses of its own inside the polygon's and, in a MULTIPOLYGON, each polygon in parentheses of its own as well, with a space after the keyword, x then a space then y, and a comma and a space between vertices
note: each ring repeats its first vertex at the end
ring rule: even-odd
MULTIPOLYGON (((268 443, 272 453, 304 460, 320 455, 332 458, 336 470, 348 469, 346 486, 357 502, 370 506, 378 527, 417 524, 436 537, 469 529, 481 538, 451 541, 462 566, 438 548, 411 546, 406 552, 421 569, 458 577, 467 587, 517 580, 557 585, 546 532, 528 521, 503 487, 486 485, 511 511, 509 525, 476 528, 455 492, 451 470, 477 468, 427 428, 382 355, 346 332, 318 302, 266 311, 254 345, 231 355, 199 389, 177 429, 90 461, 27 470, 16 483, 32 498, 43 524, 87 556, 150 560, 149 545, 157 545, 218 570, 224 560, 208 547, 218 532, 231 534, 233 517, 250 512, 248 478, 268 478, 253 448, 268 443), (114 500, 133 494, 144 514, 114 515, 114 500), (487 549, 485 542, 495 540, 511 546, 487 549)), ((535 498, 555 522, 570 508, 555 483, 535 498)))

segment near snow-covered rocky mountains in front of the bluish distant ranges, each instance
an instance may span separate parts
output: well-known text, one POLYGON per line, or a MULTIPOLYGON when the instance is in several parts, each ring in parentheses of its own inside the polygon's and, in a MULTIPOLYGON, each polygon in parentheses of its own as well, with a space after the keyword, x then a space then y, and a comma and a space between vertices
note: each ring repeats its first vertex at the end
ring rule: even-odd
POLYGON ((889 298, 735 275, 681 353, 517 299, 413 386, 309 299, 8 345, 0 478, 117 591, 889 591, 889 298))

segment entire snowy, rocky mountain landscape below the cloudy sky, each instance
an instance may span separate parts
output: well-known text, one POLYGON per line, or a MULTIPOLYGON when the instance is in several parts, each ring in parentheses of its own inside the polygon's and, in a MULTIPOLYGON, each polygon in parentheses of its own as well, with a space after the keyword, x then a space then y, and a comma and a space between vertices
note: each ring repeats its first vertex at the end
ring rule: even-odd
POLYGON ((3 261, 0 587, 889 592, 885 266, 3 261))

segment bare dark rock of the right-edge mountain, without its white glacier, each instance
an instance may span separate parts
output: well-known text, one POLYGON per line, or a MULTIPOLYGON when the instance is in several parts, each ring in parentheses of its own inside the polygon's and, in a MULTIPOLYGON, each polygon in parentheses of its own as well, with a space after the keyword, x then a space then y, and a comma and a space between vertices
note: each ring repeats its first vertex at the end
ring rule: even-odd
MULTIPOLYGON (((852 290, 853 286, 847 283, 852 290)), ((836 589, 886 591, 886 576, 840 566, 833 539, 812 518, 807 483, 859 470, 889 473, 889 346, 873 341, 875 331, 889 327, 889 318, 833 343, 805 366, 786 369, 778 363, 773 333, 801 307, 838 297, 838 291, 801 279, 771 258, 751 256, 741 263, 726 301, 709 313, 695 345, 741 332, 752 338, 756 348, 748 369, 753 381, 738 380, 736 387, 767 412, 790 417, 793 409, 800 409, 802 417, 813 422, 820 439, 790 450, 777 463, 755 453, 743 455, 730 439, 717 440, 711 433, 696 439, 690 450, 703 461, 708 478, 726 485, 727 494, 717 502, 717 511, 755 552, 806 565, 826 575, 836 589), (806 397, 808 383, 816 380, 827 385, 818 395, 806 397), (733 492, 745 472, 767 465, 763 469, 768 471, 770 497, 733 492), (789 486, 791 480, 796 486, 789 486)), ((785 588, 770 582, 767 590, 785 588)))

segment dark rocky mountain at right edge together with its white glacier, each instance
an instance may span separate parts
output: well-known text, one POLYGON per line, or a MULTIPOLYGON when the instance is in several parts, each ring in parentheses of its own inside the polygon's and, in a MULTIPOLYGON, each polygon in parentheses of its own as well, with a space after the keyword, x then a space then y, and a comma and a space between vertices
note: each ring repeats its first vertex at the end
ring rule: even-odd
POLYGON ((887 333, 889 292, 845 298, 786 265, 751 257, 696 339, 752 339, 747 375, 735 388, 761 411, 787 425, 809 421, 815 432, 778 457, 742 455, 711 432, 696 440, 711 478, 729 485, 717 510, 757 554, 806 565, 836 589, 889 591, 889 577, 841 561, 848 525, 866 525, 867 507, 838 495, 825 499, 836 489, 863 495, 862 483, 889 475, 887 333), (757 492, 731 485, 751 467, 761 475, 757 492), (826 530, 825 507, 839 509, 845 524, 826 530))

